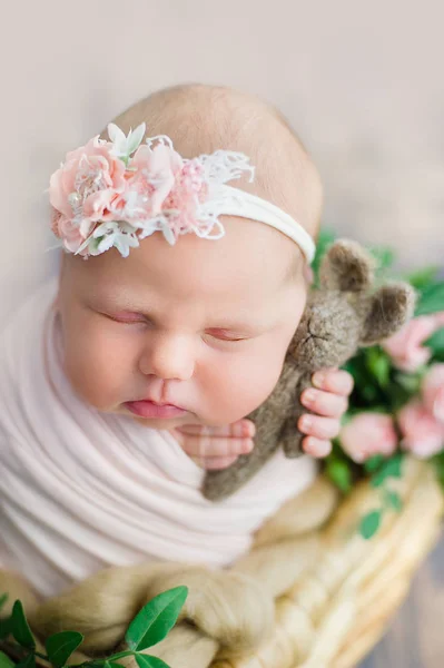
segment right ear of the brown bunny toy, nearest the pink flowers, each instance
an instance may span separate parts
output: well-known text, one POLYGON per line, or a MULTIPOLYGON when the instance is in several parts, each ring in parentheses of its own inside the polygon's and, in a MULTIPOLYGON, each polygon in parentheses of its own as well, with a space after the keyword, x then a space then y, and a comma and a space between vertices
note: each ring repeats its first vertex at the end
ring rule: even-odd
POLYGON ((369 297, 361 343, 372 345, 395 334, 412 317, 415 291, 407 283, 389 283, 369 297))

